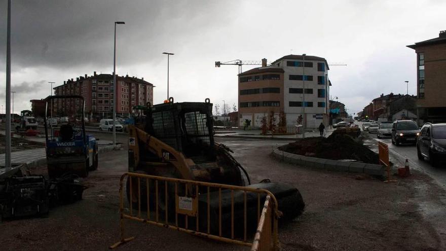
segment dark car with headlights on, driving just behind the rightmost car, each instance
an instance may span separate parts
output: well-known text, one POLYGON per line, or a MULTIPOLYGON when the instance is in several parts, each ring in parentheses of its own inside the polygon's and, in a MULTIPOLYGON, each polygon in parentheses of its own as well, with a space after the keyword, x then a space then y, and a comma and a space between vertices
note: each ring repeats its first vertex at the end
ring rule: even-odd
POLYGON ((398 146, 401 143, 417 144, 417 136, 420 129, 413 120, 398 120, 392 124, 392 144, 398 146))

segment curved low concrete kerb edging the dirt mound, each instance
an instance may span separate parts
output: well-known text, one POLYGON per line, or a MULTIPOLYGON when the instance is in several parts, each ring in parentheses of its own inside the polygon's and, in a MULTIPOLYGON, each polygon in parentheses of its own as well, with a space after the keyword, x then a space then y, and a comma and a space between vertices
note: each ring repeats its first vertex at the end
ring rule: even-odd
POLYGON ((272 156, 276 159, 282 160, 287 163, 302 165, 314 169, 353 172, 353 173, 366 173, 375 176, 385 175, 384 172, 385 167, 383 165, 320 159, 303 155, 291 154, 280 151, 278 149, 273 150, 272 156))

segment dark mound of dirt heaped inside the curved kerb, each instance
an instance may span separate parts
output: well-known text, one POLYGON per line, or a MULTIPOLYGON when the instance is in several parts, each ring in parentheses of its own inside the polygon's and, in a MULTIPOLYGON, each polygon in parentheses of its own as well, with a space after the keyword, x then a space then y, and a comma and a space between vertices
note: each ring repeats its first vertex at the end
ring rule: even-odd
POLYGON ((355 141, 351 136, 342 134, 332 134, 327 138, 302 138, 279 147, 279 150, 321 159, 349 159, 369 164, 379 164, 377 153, 355 141))

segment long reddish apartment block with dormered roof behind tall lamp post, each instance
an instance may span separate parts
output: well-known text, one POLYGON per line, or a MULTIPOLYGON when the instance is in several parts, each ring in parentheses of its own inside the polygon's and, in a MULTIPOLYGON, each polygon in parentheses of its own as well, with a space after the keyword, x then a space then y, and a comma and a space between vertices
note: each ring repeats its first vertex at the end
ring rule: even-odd
MULTIPOLYGON (((133 113, 134 105, 153 103, 153 84, 144 81, 144 78, 116 76, 116 113, 117 116, 128 117, 133 113)), ((81 95, 85 99, 85 117, 109 118, 113 116, 114 85, 112 74, 96 74, 93 76, 80 76, 68 79, 63 85, 54 87, 55 95, 81 95)), ((57 100, 54 103, 55 111, 63 109, 73 112, 79 109, 79 103, 74 100, 57 100)))

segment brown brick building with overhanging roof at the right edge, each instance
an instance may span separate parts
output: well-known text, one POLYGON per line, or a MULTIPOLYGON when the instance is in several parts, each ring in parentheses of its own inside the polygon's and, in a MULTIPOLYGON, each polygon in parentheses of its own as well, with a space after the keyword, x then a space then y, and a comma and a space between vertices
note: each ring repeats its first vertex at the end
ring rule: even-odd
POLYGON ((446 30, 407 47, 417 54, 418 123, 446 122, 446 30))

